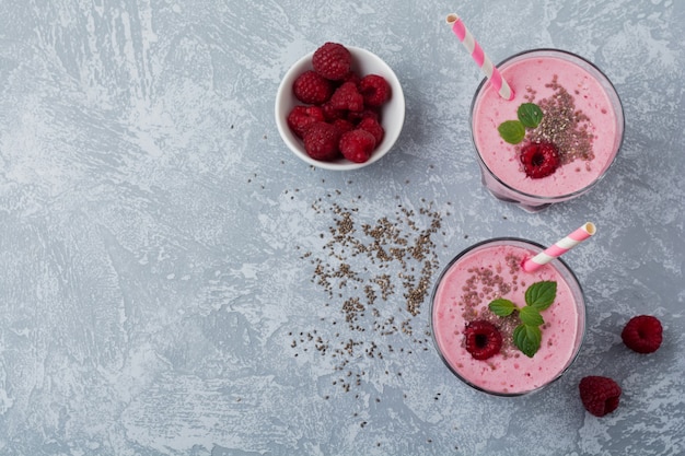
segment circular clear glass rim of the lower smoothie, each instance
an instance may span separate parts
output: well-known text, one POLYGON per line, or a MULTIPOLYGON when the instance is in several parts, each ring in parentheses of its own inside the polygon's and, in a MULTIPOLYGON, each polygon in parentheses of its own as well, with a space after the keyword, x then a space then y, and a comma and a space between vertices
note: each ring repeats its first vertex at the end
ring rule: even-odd
POLYGON ((578 355, 580 354, 580 348, 583 344, 583 341, 585 339, 585 332, 587 332, 587 323, 585 323, 585 318, 587 318, 587 312, 588 312, 588 303, 585 302, 585 292, 580 283, 580 281, 578 280, 578 277, 576 276, 576 273, 573 272, 573 270, 566 264, 566 261, 564 261, 561 258, 555 258, 553 259, 549 264, 554 265, 555 262, 558 262, 559 265, 561 265, 564 267, 564 270, 566 272, 568 272, 569 277, 566 278, 565 280, 569 280, 571 279, 576 285, 578 287, 578 292, 580 294, 580 299, 581 299, 581 304, 580 306, 578 306, 579 312, 582 309, 582 320, 583 320, 583 325, 581 330, 579 331, 578 337, 579 339, 579 343, 578 343, 578 349, 576 350, 576 352, 569 358, 568 362, 566 363, 566 365, 564 366, 564 369, 561 371, 559 371, 559 373, 552 378, 549 382, 545 383, 544 385, 541 385, 536 388, 530 389, 530 390, 525 390, 525 391, 518 391, 518 393, 503 393, 503 391, 494 391, 484 387, 480 387, 476 384, 474 384, 473 382, 464 378, 464 376, 462 376, 446 360, 446 358, 444 356, 444 354, 442 353, 442 349, 440 348, 440 344, 438 343, 438 340, 436 338, 436 329, 434 329, 434 306, 436 306, 436 293, 438 292, 438 288, 440 287, 440 283, 442 282, 442 279, 444 278, 445 273, 450 270, 450 268, 452 268, 452 266, 454 266, 455 262, 457 262, 460 259, 462 259, 464 256, 466 256, 467 254, 474 252, 475 249, 486 246, 488 244, 494 244, 494 243, 520 243, 530 247, 535 247, 537 249, 539 249, 539 252, 544 250, 546 247, 539 243, 536 243, 534 241, 530 241, 530 239, 524 239, 522 237, 515 237, 515 236, 502 236, 502 237, 491 237, 488 239, 484 239, 484 241, 479 241, 475 244, 472 244, 471 246, 462 249, 458 254, 456 254, 449 262, 448 265, 442 269, 442 271, 440 272, 440 274, 438 276, 438 279, 436 280, 434 284, 433 284, 433 289, 432 292, 430 294, 430 334, 431 334, 431 338, 433 340, 433 346, 438 352, 438 355, 440 356, 440 359, 442 360, 443 364, 450 370, 450 372, 457 377, 460 381, 462 381, 464 384, 468 385, 469 387, 478 390, 478 391, 483 391, 486 393, 488 395, 491 396, 500 396, 500 397, 520 397, 520 396, 526 396, 536 391, 539 391, 542 389, 545 389, 546 387, 548 387, 549 385, 552 385, 553 383, 557 382, 570 367, 571 365, 576 362, 576 360, 578 359, 578 355))

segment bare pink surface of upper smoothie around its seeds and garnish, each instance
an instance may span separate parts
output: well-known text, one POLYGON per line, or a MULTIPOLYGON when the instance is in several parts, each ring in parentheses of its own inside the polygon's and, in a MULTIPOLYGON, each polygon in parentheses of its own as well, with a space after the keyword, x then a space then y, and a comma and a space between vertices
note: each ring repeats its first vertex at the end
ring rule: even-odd
POLYGON ((565 196, 593 184, 611 165, 620 142, 616 112, 605 89, 583 68, 557 57, 525 58, 504 66, 501 73, 514 91, 514 98, 503 100, 486 83, 473 114, 476 149, 490 172, 508 186, 541 197, 565 196), (589 117, 594 157, 577 159, 550 176, 532 179, 521 166, 515 145, 507 143, 497 128, 506 120, 516 119, 516 109, 527 103, 530 89, 536 91, 534 103, 550 97, 554 90, 546 85, 555 75, 573 97, 576 109, 589 117))

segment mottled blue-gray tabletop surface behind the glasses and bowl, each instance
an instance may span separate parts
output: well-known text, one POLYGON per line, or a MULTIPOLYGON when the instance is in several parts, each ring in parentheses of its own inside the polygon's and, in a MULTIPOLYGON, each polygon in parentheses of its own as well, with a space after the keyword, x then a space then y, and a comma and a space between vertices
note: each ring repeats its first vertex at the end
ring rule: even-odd
POLYGON ((0 454, 685 452, 684 2, 0 0, 0 454), (481 188, 481 77, 450 12, 496 61, 559 47, 615 82, 625 143, 591 194, 529 214, 481 188), (326 40, 378 54, 404 86, 399 141, 361 171, 305 165, 274 122, 280 78, 326 40), (548 244, 595 222, 567 255, 589 301, 578 362, 526 398, 464 386, 428 303, 406 312, 415 259, 390 265, 394 293, 350 329, 359 289, 313 280, 337 261, 335 204, 359 237, 387 218, 416 239, 421 209, 439 212, 438 269, 486 237, 548 244), (665 328, 650 355, 619 338, 642 313, 665 328), (602 419, 577 394, 591 374, 624 388, 602 419))

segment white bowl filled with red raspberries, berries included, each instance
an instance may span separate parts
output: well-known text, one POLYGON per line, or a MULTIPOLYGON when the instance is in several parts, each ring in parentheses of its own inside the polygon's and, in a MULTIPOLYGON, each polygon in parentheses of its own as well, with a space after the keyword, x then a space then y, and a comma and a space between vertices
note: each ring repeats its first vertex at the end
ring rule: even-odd
POLYGON ((393 147, 405 100, 393 70, 374 54, 325 43, 286 73, 276 95, 276 125, 288 148, 326 169, 357 169, 393 147))

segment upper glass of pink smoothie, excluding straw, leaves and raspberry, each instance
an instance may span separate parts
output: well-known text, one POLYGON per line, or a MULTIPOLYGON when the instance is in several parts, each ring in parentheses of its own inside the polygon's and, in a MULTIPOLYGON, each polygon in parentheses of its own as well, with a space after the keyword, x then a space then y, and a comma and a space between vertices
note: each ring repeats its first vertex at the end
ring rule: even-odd
POLYGON ((498 68, 514 98, 503 100, 484 80, 471 108, 472 137, 486 188, 530 212, 587 192, 605 175, 624 138, 623 106, 612 82, 588 60, 557 49, 516 54, 498 68), (542 120, 524 127, 520 142, 508 142, 499 127, 519 120, 524 104, 538 106, 542 120), (552 174, 532 177, 531 167, 545 159, 525 153, 531 143, 554 145, 558 160, 552 174))

